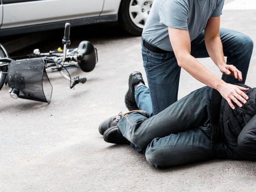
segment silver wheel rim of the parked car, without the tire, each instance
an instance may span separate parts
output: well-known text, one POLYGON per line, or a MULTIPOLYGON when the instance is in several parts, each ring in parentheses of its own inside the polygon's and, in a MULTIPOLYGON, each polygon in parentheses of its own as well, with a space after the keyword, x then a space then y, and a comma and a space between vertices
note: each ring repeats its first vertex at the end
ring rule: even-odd
POLYGON ((153 0, 131 0, 129 6, 129 15, 134 25, 143 29, 152 3, 153 0))

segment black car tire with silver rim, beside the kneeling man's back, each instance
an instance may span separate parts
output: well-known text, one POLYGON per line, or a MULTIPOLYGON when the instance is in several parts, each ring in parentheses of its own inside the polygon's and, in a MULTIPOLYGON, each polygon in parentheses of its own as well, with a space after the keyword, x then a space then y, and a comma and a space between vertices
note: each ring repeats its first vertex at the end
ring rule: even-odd
POLYGON ((142 33, 153 0, 122 0, 118 20, 125 31, 139 36, 142 33))

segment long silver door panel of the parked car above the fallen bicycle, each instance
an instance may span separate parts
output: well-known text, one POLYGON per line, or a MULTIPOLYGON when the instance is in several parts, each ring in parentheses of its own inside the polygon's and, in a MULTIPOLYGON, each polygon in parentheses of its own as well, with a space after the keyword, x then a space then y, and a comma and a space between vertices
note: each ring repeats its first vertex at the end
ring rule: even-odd
POLYGON ((104 0, 2 0, 1 29, 99 16, 104 0))

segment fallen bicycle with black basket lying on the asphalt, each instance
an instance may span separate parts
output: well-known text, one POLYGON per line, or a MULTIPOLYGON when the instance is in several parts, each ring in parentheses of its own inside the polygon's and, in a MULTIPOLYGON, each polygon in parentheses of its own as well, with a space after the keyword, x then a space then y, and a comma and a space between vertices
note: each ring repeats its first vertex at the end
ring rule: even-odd
POLYGON ((70 81, 72 89, 76 84, 86 82, 86 78, 71 78, 68 69, 79 67, 83 72, 90 72, 98 62, 97 49, 90 41, 81 41, 79 46, 70 46, 70 23, 65 24, 63 49, 41 53, 39 49, 25 56, 9 57, 0 44, 0 90, 4 84, 10 87, 10 96, 14 99, 31 99, 50 103, 52 84, 48 71, 59 71, 61 76, 70 81))

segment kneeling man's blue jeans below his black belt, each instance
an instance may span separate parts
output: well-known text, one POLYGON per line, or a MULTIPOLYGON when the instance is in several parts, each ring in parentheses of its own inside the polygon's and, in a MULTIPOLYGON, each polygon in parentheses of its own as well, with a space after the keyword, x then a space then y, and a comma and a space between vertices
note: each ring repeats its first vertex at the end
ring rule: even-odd
MULTIPOLYGON (((233 64, 242 73, 244 83, 253 51, 253 41, 240 32, 220 30, 227 64, 233 64)), ((142 47, 143 63, 151 95, 152 111, 157 114, 177 101, 180 67, 174 53, 155 53, 142 47)), ((204 32, 191 42, 191 55, 195 58, 209 57, 204 44, 204 32)), ((223 75, 227 83, 239 83, 233 76, 223 75)))

